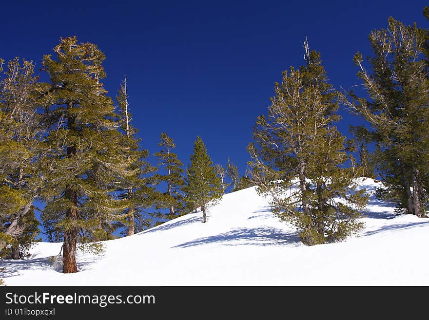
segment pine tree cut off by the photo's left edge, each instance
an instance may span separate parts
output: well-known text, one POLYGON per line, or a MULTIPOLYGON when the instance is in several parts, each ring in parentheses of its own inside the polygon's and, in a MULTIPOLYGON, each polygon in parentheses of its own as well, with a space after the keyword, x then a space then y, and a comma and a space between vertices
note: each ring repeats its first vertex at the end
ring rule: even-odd
MULTIPOLYGON (((2 64, 0 59, 0 71, 2 64)), ((38 78, 33 62, 17 57, 0 80, 0 220, 7 225, 0 230, 0 250, 27 236, 23 220, 43 187, 44 125, 38 110, 47 104, 48 84, 38 78)))

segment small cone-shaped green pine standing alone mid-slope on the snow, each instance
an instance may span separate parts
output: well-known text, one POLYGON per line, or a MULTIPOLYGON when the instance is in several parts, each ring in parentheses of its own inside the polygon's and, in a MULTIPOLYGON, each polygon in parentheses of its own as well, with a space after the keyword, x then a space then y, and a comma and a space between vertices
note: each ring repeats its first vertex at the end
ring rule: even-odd
POLYGON ((207 208, 215 204, 222 197, 222 188, 216 176, 206 146, 199 136, 196 137, 194 153, 186 169, 186 202, 194 208, 200 207, 203 212, 203 223, 207 221, 207 208))

